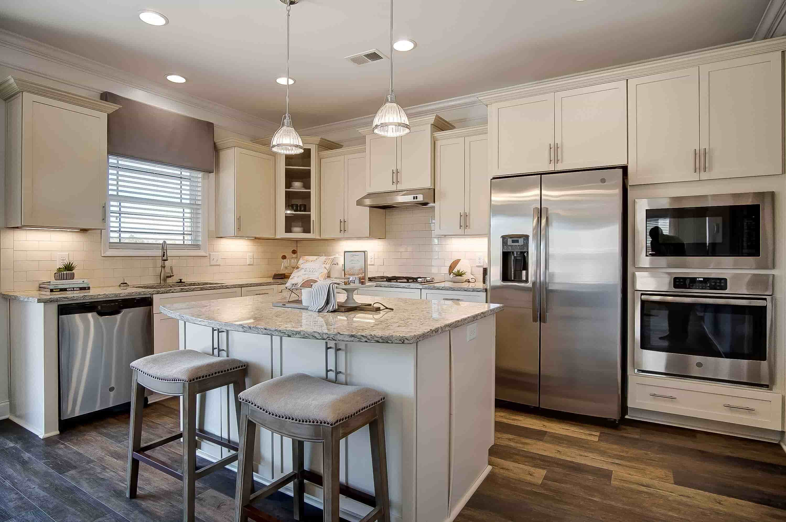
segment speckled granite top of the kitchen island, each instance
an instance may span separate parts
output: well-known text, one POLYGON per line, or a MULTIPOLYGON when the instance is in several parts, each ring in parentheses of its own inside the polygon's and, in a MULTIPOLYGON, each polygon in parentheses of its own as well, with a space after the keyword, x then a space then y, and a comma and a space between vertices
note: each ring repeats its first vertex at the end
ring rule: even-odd
MULTIPOLYGON (((345 296, 339 295, 339 302, 345 296)), ((274 307, 286 295, 232 297, 198 303, 176 303, 160 307, 163 314, 185 322, 233 330, 299 339, 341 342, 414 344, 496 314, 501 304, 465 303, 355 296, 362 303, 384 299, 392 311, 318 313, 296 308, 274 307)))

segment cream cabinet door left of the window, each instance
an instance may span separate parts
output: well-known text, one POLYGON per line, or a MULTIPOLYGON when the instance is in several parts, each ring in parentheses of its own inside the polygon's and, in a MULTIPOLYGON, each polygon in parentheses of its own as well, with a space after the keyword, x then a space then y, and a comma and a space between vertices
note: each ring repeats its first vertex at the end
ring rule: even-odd
POLYGON ((106 114, 24 93, 21 225, 104 228, 106 114))

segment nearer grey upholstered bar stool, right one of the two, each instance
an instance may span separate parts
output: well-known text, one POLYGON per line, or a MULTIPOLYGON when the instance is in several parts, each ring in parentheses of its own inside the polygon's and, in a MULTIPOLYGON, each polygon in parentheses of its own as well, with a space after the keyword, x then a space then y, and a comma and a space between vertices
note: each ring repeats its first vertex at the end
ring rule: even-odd
POLYGON ((270 520, 250 502, 265 498, 293 483, 295 519, 301 520, 304 508, 303 482, 323 487, 323 520, 339 522, 339 495, 347 488, 339 482, 340 440, 369 425, 371 463, 374 473, 374 509, 361 522, 390 522, 385 456, 385 396, 371 388, 334 384, 305 373, 291 373, 256 384, 242 392, 240 415, 240 458, 237 461, 235 522, 249 517, 270 520), (256 425, 292 439, 292 472, 251 493, 256 425), (322 443, 323 475, 304 469, 303 442, 322 443), (320 483, 321 482, 321 483, 320 483))

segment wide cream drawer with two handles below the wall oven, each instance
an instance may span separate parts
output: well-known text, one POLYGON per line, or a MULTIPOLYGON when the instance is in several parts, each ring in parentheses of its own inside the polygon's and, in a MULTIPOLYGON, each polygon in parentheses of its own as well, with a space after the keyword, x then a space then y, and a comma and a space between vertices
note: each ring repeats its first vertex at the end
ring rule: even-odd
POLYGON ((630 377, 629 406, 711 421, 781 429, 782 396, 722 384, 630 377))

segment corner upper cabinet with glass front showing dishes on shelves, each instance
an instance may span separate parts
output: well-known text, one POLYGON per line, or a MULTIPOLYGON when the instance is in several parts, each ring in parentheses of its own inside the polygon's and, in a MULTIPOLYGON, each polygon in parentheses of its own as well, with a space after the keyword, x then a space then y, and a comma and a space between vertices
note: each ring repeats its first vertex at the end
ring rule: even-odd
MULTIPOLYGON (((276 237, 319 237, 318 154, 341 145, 312 136, 301 139, 303 153, 276 154, 276 237)), ((255 142, 270 145, 270 138, 255 142)))

